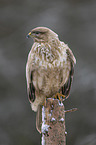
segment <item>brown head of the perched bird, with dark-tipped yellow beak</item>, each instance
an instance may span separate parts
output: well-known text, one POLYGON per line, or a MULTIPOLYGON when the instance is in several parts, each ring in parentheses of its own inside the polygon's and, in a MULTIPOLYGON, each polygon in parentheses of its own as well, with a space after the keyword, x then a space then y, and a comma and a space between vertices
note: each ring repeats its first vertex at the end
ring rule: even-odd
POLYGON ((35 42, 48 42, 50 39, 58 38, 58 35, 46 27, 36 27, 31 30, 27 38, 32 37, 35 42))

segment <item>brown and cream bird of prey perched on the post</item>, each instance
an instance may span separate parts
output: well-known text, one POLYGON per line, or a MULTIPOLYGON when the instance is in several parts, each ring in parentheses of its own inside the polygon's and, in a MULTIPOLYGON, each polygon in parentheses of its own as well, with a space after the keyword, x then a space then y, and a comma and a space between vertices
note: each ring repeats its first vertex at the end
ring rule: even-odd
POLYGON ((76 59, 68 45, 47 27, 36 27, 27 37, 34 40, 26 64, 27 92, 32 110, 37 112, 37 130, 41 132, 40 107, 45 98, 61 100, 61 96, 69 96, 76 59))

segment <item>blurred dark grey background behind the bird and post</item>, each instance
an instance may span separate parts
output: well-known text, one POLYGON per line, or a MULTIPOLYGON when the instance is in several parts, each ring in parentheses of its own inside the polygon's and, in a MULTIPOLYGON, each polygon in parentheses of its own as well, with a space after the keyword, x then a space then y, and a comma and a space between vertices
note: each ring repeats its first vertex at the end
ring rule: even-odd
POLYGON ((31 29, 46 26, 72 49, 77 64, 65 109, 67 145, 96 145, 96 0, 0 0, 0 145, 40 145, 27 98, 31 29))

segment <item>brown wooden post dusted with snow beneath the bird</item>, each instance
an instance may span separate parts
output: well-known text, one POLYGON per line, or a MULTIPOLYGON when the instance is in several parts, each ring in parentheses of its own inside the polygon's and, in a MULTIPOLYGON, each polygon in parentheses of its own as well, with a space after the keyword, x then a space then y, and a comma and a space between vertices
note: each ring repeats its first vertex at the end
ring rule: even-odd
POLYGON ((65 111, 57 99, 47 99, 42 107, 42 145, 66 145, 65 111))

